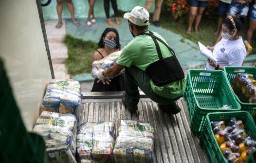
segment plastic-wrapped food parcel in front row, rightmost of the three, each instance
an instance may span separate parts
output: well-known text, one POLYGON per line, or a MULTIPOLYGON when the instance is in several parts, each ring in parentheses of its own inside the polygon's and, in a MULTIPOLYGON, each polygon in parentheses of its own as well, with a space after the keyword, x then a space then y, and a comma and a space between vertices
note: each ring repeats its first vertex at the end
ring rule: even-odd
POLYGON ((153 163, 154 128, 149 123, 119 120, 116 130, 115 163, 153 163))

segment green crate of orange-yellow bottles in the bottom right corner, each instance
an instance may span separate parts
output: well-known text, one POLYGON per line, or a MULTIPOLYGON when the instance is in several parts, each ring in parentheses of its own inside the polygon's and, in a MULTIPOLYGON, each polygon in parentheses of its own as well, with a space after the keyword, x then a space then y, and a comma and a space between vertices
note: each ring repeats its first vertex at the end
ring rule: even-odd
MULTIPOLYGON (((226 113, 210 113, 207 114, 204 126, 200 136, 200 144, 205 149, 207 153, 207 157, 209 161, 212 163, 228 163, 224 158, 221 150, 219 149, 219 145, 215 139, 215 136, 212 131, 211 121, 225 121, 225 123, 231 119, 231 117, 235 117, 238 120, 242 120, 244 124, 244 129, 248 136, 250 136, 253 140, 256 140, 256 126, 252 116, 245 111, 238 112, 226 112, 226 113)), ((249 157, 253 157, 252 152, 249 157)), ((248 157, 248 158, 249 158, 248 157)), ((247 159, 246 163, 251 163, 251 159, 247 159)))

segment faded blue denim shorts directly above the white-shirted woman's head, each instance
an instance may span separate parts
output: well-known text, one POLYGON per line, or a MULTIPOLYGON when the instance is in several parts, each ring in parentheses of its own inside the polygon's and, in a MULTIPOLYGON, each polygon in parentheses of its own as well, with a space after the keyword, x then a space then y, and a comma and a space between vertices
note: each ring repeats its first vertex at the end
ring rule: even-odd
POLYGON ((231 15, 239 15, 239 16, 247 16, 248 15, 248 11, 249 11, 249 3, 250 2, 246 2, 246 3, 240 3, 236 0, 232 0, 229 9, 227 11, 227 14, 231 14, 231 15))

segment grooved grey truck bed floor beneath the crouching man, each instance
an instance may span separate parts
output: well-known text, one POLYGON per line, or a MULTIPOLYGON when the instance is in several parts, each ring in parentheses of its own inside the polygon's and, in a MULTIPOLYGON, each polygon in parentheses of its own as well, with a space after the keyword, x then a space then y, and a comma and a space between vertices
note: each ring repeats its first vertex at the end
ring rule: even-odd
POLYGON ((176 115, 163 113, 157 103, 149 98, 141 98, 138 111, 133 114, 125 108, 121 98, 96 98, 83 99, 79 123, 114 121, 120 118, 145 120, 155 129, 155 163, 208 163, 198 137, 190 132, 185 98, 177 101, 182 111, 176 115))

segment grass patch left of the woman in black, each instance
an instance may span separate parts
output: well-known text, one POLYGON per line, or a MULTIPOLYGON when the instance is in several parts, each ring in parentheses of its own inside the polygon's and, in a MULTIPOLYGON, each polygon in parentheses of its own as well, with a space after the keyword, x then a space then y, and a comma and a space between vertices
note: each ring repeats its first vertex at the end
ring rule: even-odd
POLYGON ((73 38, 67 34, 63 40, 68 48, 69 58, 65 64, 70 75, 91 73, 93 52, 98 49, 97 43, 73 38))

